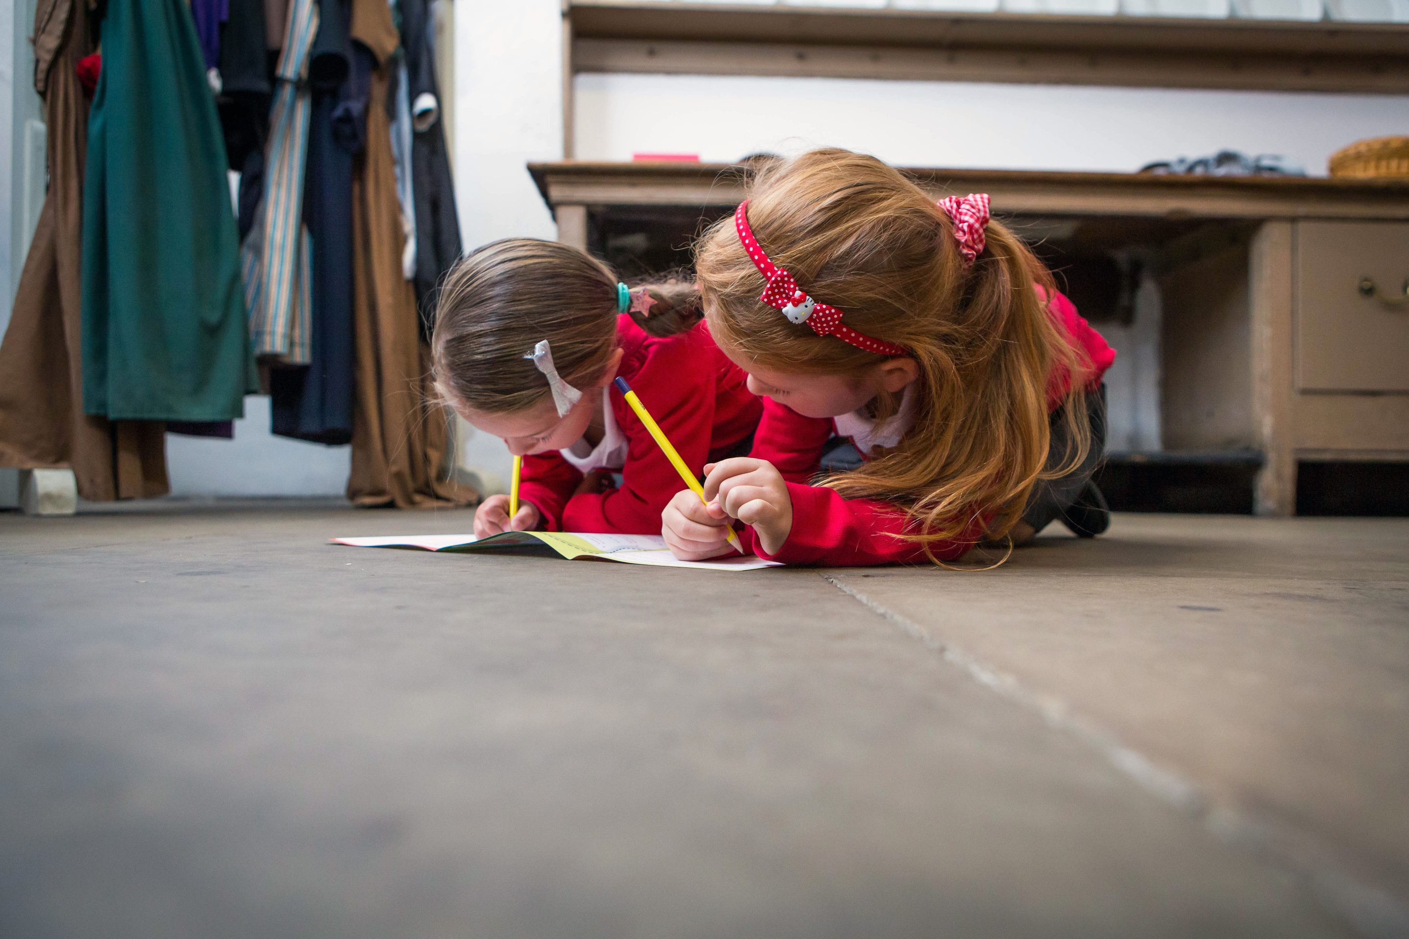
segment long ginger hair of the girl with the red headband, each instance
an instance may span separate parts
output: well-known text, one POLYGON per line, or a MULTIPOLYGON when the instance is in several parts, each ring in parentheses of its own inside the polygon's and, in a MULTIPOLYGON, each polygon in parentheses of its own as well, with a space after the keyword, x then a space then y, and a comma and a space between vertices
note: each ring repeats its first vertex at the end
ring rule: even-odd
MULTIPOLYGON (((823 484, 847 498, 906 505, 914 525, 903 538, 931 560, 937 542, 976 541, 985 519, 983 538, 1005 536, 1033 484, 1075 469, 1091 441, 1078 400, 1062 418, 1075 446, 1061 466, 1044 469, 1048 383, 1065 370, 1074 397, 1085 386, 1084 358, 1047 311, 1051 275, 998 221, 965 265, 948 215, 872 156, 813 151, 762 166, 750 190, 750 227, 774 263, 843 310, 854 329, 909 349, 920 369, 914 424, 900 442, 823 484)), ((764 305, 764 276, 733 217, 696 245, 696 272, 724 349, 790 373, 859 374, 882 360, 764 305)), ((874 408, 885 420, 898 401, 883 394, 874 408)))

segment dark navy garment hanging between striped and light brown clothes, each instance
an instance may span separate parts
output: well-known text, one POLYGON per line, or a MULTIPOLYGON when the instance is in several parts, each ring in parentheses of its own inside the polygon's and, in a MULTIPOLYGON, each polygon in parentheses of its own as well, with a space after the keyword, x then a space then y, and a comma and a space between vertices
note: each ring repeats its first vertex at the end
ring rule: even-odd
MULTIPOLYGON (((352 441, 352 163, 358 138, 340 139, 334 114, 352 93, 347 0, 321 0, 309 62, 313 113, 303 218, 313 239, 311 360, 269 373, 271 429, 316 443, 352 441), (347 144, 351 142, 352 146, 347 144)), ((366 87, 371 75, 364 68, 366 87)))

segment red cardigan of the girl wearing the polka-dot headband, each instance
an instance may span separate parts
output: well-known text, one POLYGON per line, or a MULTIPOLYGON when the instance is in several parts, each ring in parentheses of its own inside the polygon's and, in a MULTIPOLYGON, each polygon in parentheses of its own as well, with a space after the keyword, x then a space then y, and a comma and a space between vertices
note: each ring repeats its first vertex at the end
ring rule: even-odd
MULTIPOLYGON (((1116 351, 1062 294, 1053 297, 1048 311, 1089 360, 1088 390, 1095 390, 1106 369, 1116 360, 1116 351)), ((1048 408, 1060 407, 1068 390, 1069 376, 1054 374, 1048 408)), ((751 546, 759 557, 788 565, 851 567, 926 562, 923 546, 896 538, 910 527, 900 505, 871 498, 847 500, 824 486, 807 484, 821 469, 821 453, 834 431, 836 418, 803 417, 786 404, 765 400, 764 417, 750 456, 768 460, 782 473, 792 498, 793 525, 776 555, 762 549, 752 528, 745 529, 745 546, 751 546)), ((940 560, 955 560, 974 546, 974 538, 981 534, 978 524, 974 529, 967 541, 933 542, 930 550, 940 560)))

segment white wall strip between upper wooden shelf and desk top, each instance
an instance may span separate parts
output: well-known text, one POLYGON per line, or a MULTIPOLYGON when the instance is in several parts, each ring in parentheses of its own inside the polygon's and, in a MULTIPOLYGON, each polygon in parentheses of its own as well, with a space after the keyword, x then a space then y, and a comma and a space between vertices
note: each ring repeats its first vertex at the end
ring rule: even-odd
POLYGON ((1332 152, 1403 134, 1409 115, 1409 96, 1371 94, 661 75, 576 87, 582 159, 834 145, 907 166, 1136 170, 1231 148, 1323 175, 1332 152))

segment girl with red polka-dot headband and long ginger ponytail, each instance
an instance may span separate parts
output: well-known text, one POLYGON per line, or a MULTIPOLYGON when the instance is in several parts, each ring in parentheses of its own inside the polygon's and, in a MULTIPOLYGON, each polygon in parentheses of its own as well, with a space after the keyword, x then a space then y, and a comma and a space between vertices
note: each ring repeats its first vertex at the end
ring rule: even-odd
POLYGON ((934 203, 840 149, 766 165, 696 249, 710 331, 766 397, 754 450, 662 514, 676 557, 748 525, 786 563, 948 562, 1109 512, 1091 474, 1115 351, 986 196, 934 203), (858 469, 816 480, 833 434, 858 469), (817 483, 817 484, 814 484, 817 483))

